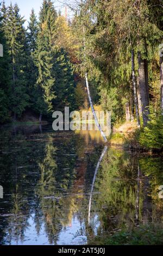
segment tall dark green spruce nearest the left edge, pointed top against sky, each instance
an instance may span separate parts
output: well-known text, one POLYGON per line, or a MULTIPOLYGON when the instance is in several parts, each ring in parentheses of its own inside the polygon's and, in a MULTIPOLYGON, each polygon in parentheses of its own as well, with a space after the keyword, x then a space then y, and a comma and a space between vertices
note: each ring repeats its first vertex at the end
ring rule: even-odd
POLYGON ((16 117, 21 117, 28 106, 29 96, 27 95, 27 41, 24 19, 19 14, 17 4, 10 4, 7 12, 7 27, 5 36, 7 38, 9 52, 9 70, 11 73, 12 96, 11 112, 16 117))

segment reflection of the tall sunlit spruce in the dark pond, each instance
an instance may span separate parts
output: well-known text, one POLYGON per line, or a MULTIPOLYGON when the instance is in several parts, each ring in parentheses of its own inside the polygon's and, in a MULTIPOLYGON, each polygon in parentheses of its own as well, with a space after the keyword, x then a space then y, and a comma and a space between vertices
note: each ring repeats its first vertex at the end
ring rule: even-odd
POLYGON ((67 197, 67 194, 76 177, 74 172, 76 156, 68 155, 67 147, 65 141, 58 150, 49 139, 45 149, 45 159, 39 163, 41 175, 36 194, 40 199, 43 222, 51 244, 57 244, 63 225, 70 223, 69 215, 72 206, 74 207, 73 201, 67 197))

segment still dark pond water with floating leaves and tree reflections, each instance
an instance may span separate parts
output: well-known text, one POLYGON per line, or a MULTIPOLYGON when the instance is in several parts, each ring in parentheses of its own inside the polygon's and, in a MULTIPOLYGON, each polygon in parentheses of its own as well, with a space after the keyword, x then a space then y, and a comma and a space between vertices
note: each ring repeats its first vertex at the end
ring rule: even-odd
POLYGON ((3 126, 0 244, 85 245, 105 232, 162 222, 161 185, 161 156, 106 148, 97 131, 3 126))

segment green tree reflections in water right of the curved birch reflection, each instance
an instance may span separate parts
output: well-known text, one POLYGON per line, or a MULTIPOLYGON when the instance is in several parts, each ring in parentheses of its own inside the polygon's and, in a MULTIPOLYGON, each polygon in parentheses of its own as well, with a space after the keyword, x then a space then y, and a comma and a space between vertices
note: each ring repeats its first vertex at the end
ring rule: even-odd
MULTIPOLYGON (((158 221, 158 216, 163 215, 162 200, 158 198, 158 187, 163 184, 160 163, 158 157, 108 150, 96 180, 96 190, 100 194, 94 196, 92 206, 95 208, 94 219, 96 209, 99 209, 99 235, 104 231, 113 233, 123 227, 158 221)), ((89 227, 87 233, 90 238, 92 231, 89 227)))

